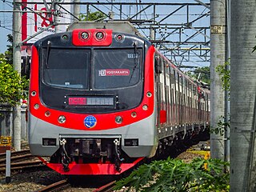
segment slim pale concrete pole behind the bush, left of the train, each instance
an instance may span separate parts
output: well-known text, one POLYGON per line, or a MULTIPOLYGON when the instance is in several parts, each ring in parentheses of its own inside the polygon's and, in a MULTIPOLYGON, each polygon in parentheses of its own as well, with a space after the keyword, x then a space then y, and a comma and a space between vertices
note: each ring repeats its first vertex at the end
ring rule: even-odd
MULTIPOLYGON (((14 0, 14 14, 13 14, 13 61, 14 70, 21 74, 21 45, 22 42, 22 0, 14 0)), ((14 131, 13 142, 15 150, 21 150, 21 106, 19 104, 14 106, 13 110, 14 131)))

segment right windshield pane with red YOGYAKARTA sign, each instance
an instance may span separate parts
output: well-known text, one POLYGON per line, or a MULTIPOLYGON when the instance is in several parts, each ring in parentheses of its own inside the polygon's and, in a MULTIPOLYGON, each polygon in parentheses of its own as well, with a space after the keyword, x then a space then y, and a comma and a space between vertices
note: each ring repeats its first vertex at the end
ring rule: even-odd
POLYGON ((142 75, 142 49, 94 50, 94 88, 134 86, 142 75))

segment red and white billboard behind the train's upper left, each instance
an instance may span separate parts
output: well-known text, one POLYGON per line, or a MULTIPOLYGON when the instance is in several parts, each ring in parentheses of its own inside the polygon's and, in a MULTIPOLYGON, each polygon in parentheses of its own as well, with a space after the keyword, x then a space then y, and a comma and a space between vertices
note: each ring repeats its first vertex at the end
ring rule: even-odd
MULTIPOLYGON (((34 43, 38 39, 45 37, 49 34, 55 33, 55 27, 51 26, 46 29, 52 22, 54 21, 53 14, 46 14, 46 6, 44 4, 37 4, 37 0, 30 0, 30 2, 35 2, 34 4, 26 4, 27 0, 22 0, 22 10, 28 11, 28 13, 24 12, 22 14, 22 41, 27 38, 30 38, 34 34, 44 30, 41 34, 37 34, 34 38, 31 38, 27 41, 27 43, 34 43), (34 10, 35 13, 31 13, 31 10, 34 10), (38 13, 38 14, 36 14, 38 13)), ((47 0, 46 2, 52 2, 47 0)), ((71 2, 71 0, 66 0, 65 2, 71 2)), ((53 8, 50 8, 50 3, 47 4, 48 9, 54 12, 53 8)), ((73 6, 71 5, 62 5, 66 10, 72 13, 73 6)), ((61 8, 61 13, 63 17, 60 17, 60 23, 66 23, 66 25, 58 26, 58 29, 61 31, 66 31, 66 27, 72 22, 72 16, 70 13, 67 13, 66 10, 61 8)))

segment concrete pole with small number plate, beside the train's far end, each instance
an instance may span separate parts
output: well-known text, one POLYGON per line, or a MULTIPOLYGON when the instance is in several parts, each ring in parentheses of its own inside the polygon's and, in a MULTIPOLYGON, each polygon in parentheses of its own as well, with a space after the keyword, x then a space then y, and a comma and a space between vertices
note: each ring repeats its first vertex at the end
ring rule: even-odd
MULTIPOLYGON (((210 28, 210 123, 215 129, 225 110, 222 81, 215 69, 226 61, 226 0, 210 1, 210 28)), ((224 147, 221 134, 210 134, 211 158, 224 160, 224 147)))

